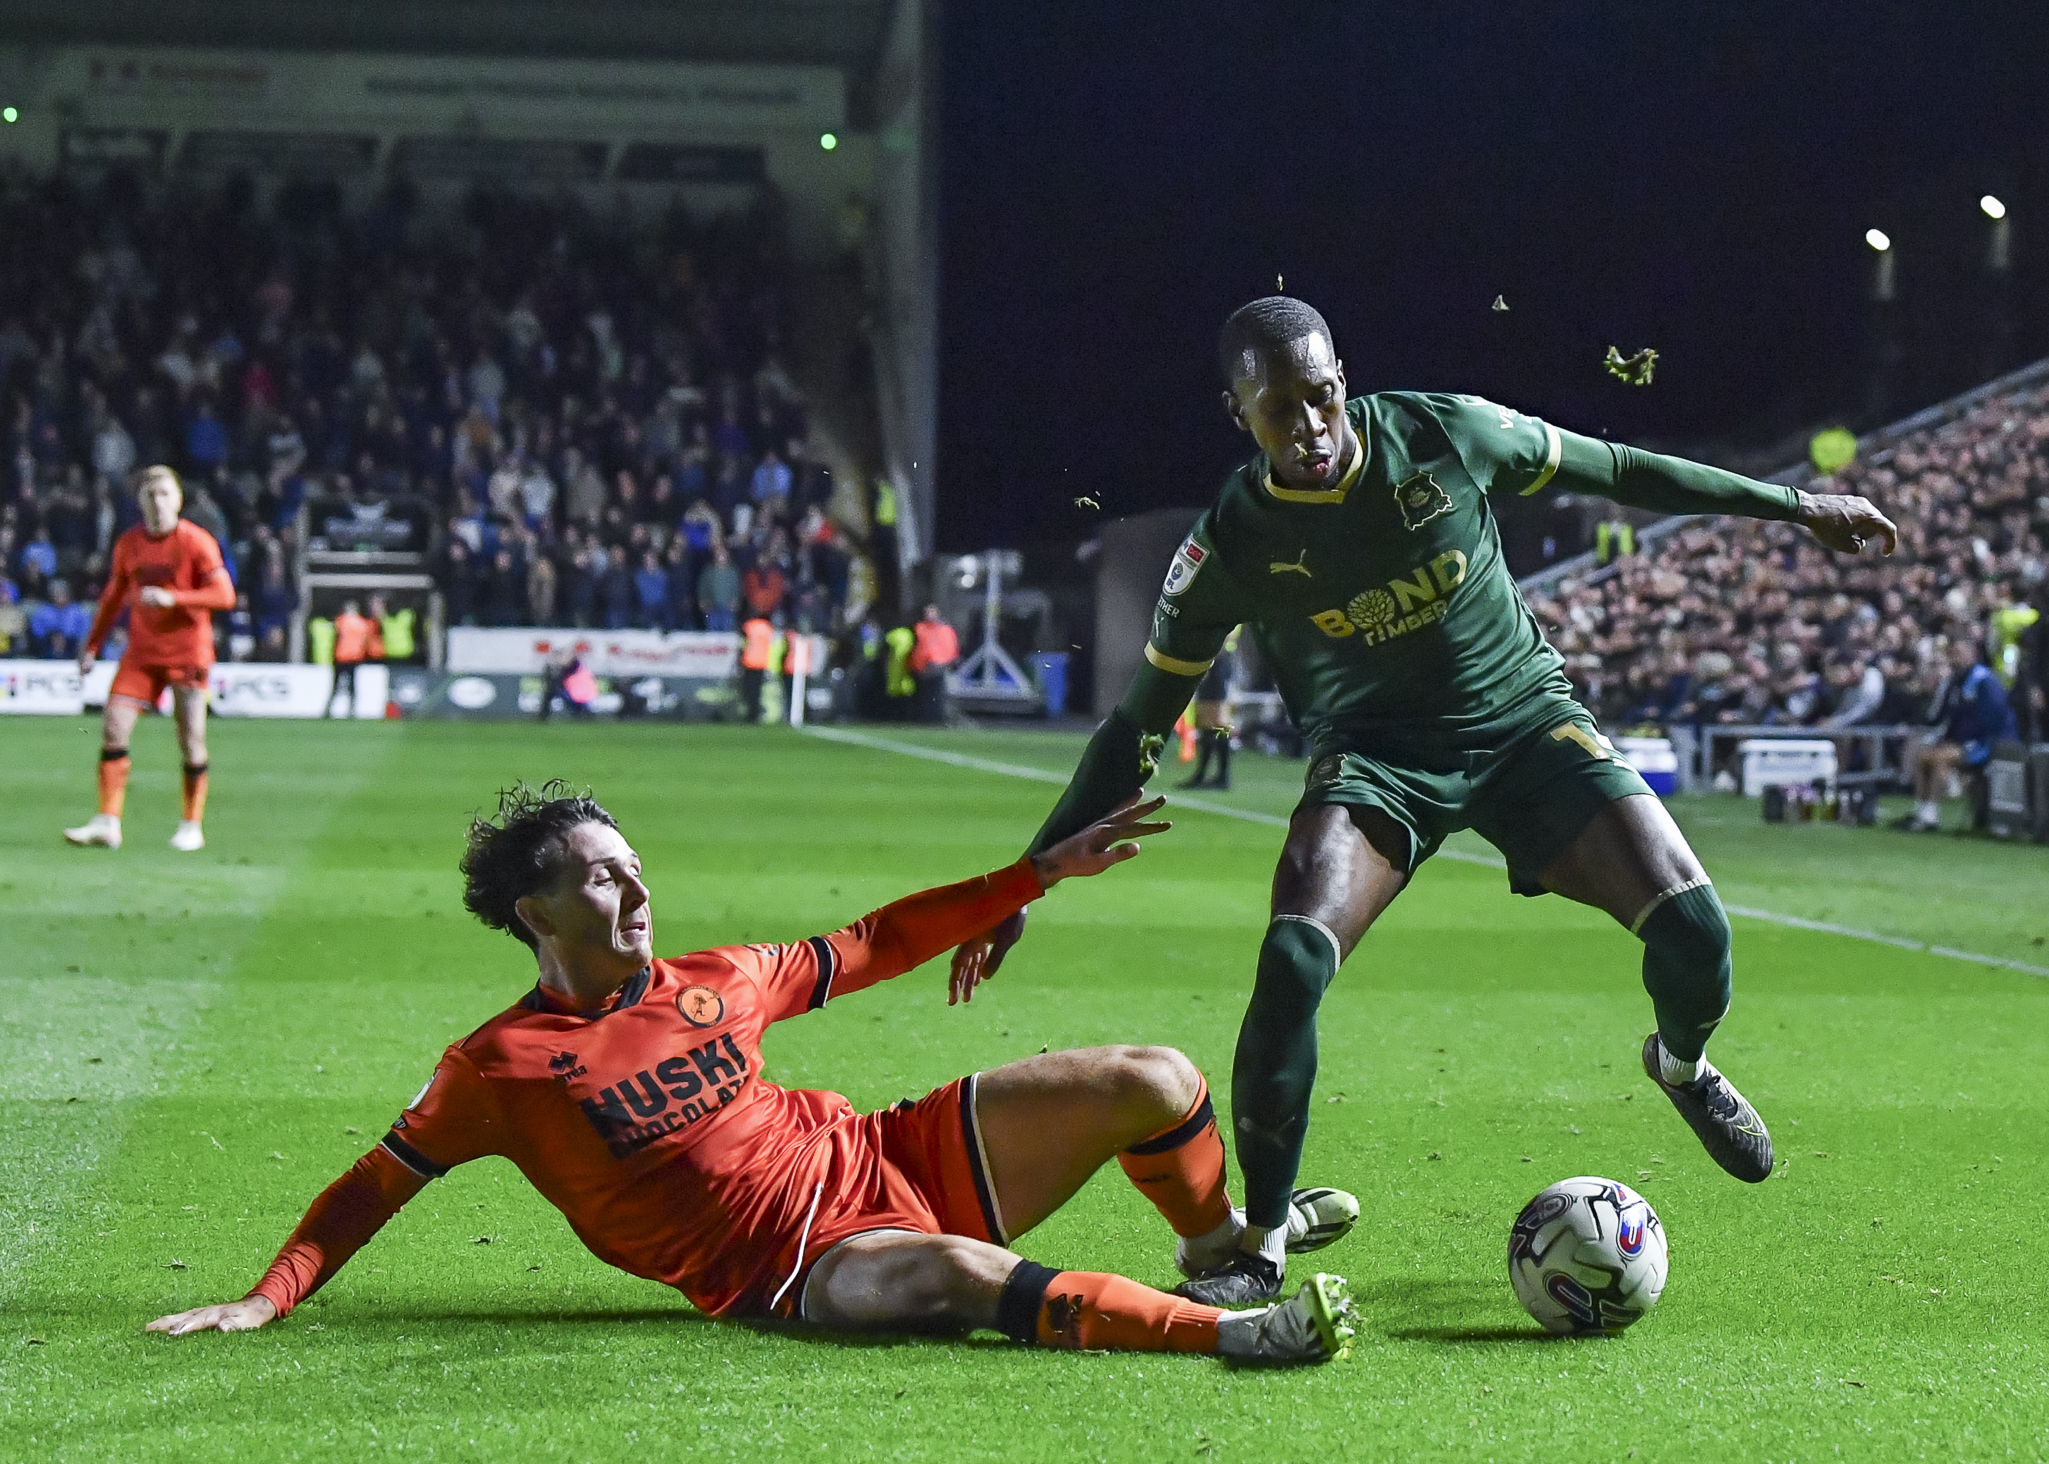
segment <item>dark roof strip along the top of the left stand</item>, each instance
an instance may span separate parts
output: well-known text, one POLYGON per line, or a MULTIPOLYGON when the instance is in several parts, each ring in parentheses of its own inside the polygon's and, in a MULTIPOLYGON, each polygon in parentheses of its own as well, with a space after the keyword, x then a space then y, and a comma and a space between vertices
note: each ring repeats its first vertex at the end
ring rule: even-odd
POLYGON ((863 80, 895 0, 6 0, 0 43, 783 62, 863 80))

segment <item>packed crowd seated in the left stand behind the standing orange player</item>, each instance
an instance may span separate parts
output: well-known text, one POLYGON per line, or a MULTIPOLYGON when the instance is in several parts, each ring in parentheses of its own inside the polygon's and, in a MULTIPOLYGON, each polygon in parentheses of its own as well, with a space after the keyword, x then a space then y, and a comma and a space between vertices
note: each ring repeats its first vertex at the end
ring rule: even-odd
POLYGON ((4 178, 0 654, 76 654, 156 461, 240 586, 223 654, 285 656, 301 504, 311 535, 416 523, 449 623, 838 629, 867 582, 787 281, 768 187, 635 232, 484 187, 430 221, 404 182, 350 211, 4 178))

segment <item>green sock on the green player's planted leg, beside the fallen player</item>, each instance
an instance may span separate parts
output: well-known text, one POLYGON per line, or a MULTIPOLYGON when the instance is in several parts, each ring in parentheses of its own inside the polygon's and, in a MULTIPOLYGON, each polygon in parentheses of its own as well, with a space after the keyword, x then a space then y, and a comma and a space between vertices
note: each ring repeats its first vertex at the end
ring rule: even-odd
POLYGON ((1246 1222, 1281 1230, 1309 1134, 1315 1087, 1315 1009, 1338 974, 1332 933, 1303 917, 1279 914, 1260 943, 1246 1025, 1231 1064, 1238 1167, 1246 1175, 1246 1222))

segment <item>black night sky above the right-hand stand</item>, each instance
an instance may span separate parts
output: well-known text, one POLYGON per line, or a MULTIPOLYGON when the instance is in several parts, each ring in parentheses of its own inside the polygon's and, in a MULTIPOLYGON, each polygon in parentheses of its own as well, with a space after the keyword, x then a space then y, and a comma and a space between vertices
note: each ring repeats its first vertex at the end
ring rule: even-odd
POLYGON ((955 4, 943 92, 943 550, 1082 537, 1082 494, 1205 502, 1250 447, 1217 328, 1277 273, 1354 394, 1678 451, 1875 424, 1871 226, 1891 416, 2049 351, 2041 4, 955 4))

